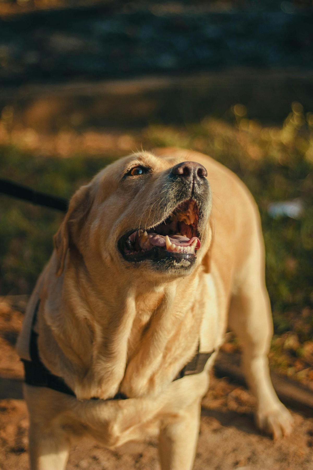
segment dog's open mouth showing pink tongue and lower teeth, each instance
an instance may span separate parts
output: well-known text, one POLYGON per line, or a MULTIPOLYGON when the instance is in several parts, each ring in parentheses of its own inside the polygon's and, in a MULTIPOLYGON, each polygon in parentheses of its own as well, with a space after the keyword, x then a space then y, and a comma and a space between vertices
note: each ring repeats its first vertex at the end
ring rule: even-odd
POLYGON ((164 255, 194 258, 200 248, 198 219, 197 202, 185 201, 160 224, 124 235, 119 241, 120 250, 124 258, 130 261, 164 255))

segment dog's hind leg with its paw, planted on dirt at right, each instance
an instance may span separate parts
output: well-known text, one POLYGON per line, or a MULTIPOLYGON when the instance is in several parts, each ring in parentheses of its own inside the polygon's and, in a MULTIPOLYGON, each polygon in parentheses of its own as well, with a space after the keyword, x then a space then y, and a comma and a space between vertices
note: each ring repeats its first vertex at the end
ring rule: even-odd
POLYGON ((233 296, 229 326, 242 343, 244 374, 257 399, 259 428, 274 439, 290 434, 292 417, 279 401, 269 375, 267 354, 273 327, 266 290, 258 286, 233 296))

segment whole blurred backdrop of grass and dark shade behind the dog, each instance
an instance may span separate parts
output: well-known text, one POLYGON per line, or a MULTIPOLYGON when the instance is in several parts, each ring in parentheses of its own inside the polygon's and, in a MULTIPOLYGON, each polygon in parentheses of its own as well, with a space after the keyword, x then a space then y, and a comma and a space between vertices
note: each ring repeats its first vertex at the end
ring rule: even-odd
MULTIPOLYGON (((311 390, 312 24, 309 0, 0 1, 0 177, 69 198, 141 147, 228 166, 261 213, 271 368, 311 390)), ((2 376, 62 217, 0 195, 2 376)))

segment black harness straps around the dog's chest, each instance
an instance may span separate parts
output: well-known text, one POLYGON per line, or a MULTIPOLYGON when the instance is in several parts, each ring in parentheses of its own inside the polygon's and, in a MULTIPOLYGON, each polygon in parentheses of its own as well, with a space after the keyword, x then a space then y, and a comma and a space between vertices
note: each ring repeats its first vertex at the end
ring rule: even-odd
MULTIPOLYGON (((46 387, 56 390, 57 392, 66 393, 75 397, 75 393, 64 380, 52 374, 46 366, 41 362, 38 352, 38 333, 34 330, 34 325, 37 318, 37 312, 39 308, 40 300, 38 300, 35 312, 31 324, 31 337, 30 337, 30 357, 31 360, 22 359, 25 370, 25 383, 34 385, 36 387, 46 387)), ((198 343, 198 351, 195 356, 186 364, 182 370, 177 374, 174 380, 183 378, 184 376, 191 376, 194 374, 200 374, 203 371, 206 361, 212 356, 214 350, 211 352, 200 352, 200 344, 198 343)), ((116 393, 113 398, 108 400, 124 400, 127 399, 126 395, 121 392, 116 393)), ((98 399, 97 397, 92 398, 93 400, 98 399)))

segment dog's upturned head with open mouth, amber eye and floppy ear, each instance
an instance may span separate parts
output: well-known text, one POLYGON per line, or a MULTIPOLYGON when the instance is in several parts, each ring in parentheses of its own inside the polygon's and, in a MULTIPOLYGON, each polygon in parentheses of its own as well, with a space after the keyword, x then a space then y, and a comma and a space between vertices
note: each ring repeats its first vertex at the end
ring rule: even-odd
POLYGON ((54 237, 57 274, 71 247, 85 262, 113 263, 134 275, 189 274, 207 250, 206 176, 199 163, 148 152, 110 164, 71 199, 54 237))

